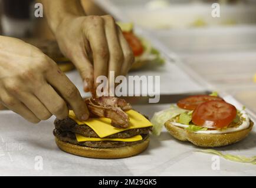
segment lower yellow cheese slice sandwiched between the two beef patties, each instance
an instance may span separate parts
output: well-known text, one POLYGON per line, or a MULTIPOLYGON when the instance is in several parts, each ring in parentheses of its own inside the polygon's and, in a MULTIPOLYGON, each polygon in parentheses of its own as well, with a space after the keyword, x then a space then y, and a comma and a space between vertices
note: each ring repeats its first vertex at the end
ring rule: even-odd
POLYGON ((120 138, 100 138, 100 137, 84 137, 83 135, 76 134, 77 142, 86 142, 86 141, 119 141, 119 142, 136 142, 139 140, 142 140, 142 136, 136 135, 133 137, 128 137, 126 139, 120 139, 120 138))

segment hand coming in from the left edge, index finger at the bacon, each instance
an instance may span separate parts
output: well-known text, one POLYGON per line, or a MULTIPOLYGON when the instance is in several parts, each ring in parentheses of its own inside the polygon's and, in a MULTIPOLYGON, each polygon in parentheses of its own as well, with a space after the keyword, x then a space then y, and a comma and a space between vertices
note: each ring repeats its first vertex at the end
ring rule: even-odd
POLYGON ((0 36, 0 90, 0 102, 32 123, 64 119, 69 106, 88 118, 86 103, 56 63, 19 39, 0 36))

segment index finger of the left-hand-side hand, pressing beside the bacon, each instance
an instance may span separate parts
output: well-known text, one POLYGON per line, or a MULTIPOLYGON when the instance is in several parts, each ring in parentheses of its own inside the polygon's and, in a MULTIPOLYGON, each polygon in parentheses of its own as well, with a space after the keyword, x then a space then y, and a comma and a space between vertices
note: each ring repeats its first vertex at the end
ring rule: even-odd
MULTIPOLYGON (((47 82, 50 83, 50 85, 57 90, 61 97, 71 106, 78 119, 87 120, 89 113, 86 103, 81 98, 76 86, 74 86, 67 76, 65 76, 65 74, 58 68, 54 68, 47 72, 46 76, 47 82)), ((51 93, 53 92, 51 91, 51 93)), ((60 106, 64 106, 64 103, 60 103, 60 106)))

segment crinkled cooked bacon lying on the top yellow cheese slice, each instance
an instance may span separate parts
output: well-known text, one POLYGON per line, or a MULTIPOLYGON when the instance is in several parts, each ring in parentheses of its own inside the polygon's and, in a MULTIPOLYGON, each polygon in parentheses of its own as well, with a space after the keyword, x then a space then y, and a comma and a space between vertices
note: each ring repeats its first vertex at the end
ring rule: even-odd
POLYGON ((111 125, 126 128, 129 125, 129 117, 123 110, 132 109, 129 103, 123 99, 103 96, 86 100, 88 109, 93 115, 111 119, 111 125))

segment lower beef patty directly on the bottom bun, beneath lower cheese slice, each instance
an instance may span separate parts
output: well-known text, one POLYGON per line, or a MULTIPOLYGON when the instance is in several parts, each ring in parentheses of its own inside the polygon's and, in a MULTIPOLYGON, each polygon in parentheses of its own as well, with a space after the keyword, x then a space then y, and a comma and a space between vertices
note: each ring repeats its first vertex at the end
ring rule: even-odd
POLYGON ((143 139, 136 142, 120 142, 120 141, 86 141, 86 142, 77 142, 76 135, 73 132, 69 131, 60 131, 57 129, 53 130, 54 136, 60 139, 63 142, 68 142, 74 145, 94 147, 94 148, 112 148, 112 147, 124 147, 136 145, 137 143, 143 142, 147 139, 149 134, 142 135, 143 139))

